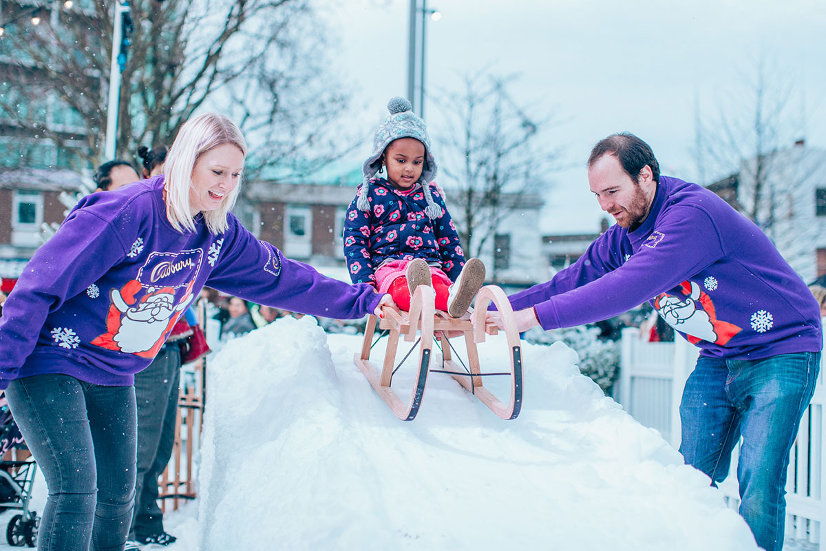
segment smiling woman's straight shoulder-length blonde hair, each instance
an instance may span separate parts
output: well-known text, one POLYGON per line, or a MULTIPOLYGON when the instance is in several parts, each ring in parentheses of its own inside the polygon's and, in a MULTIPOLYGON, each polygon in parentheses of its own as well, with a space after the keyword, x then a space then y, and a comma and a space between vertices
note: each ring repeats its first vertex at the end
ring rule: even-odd
MULTIPOLYGON (((197 159, 219 145, 235 145, 244 157, 247 142, 240 128, 229 118, 217 113, 204 113, 186 121, 175 136, 164 161, 164 188, 166 188, 166 216, 173 228, 180 232, 195 231, 195 221, 189 210, 189 190, 192 188, 192 169, 197 159)), ((240 185, 227 193, 221 207, 203 213, 212 234, 221 234, 229 226, 227 214, 235 207, 240 185)))

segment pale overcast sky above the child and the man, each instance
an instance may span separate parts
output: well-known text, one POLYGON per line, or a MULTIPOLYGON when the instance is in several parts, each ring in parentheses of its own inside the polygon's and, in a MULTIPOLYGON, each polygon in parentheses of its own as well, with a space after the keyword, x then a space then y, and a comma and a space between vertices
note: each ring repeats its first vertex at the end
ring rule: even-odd
MULTIPOLYGON (((377 122, 389 97, 406 96, 409 0, 325 2, 354 124, 377 122)), ((584 164, 613 132, 648 141, 662 173, 700 178, 695 104, 699 98, 704 116, 721 107, 733 115, 732 97, 748 105, 746 81, 756 78, 759 59, 771 64, 773 85, 791 87, 786 119, 805 120, 805 136, 787 140, 826 146, 823 0, 428 0, 428 7, 442 13, 427 24, 429 91, 461 91, 463 74, 485 68, 518 74, 515 100, 564 120, 548 139, 566 146, 563 161, 572 168, 552 175, 546 232, 597 230, 602 213, 584 164)), ((426 103, 434 141, 439 118, 426 103)))

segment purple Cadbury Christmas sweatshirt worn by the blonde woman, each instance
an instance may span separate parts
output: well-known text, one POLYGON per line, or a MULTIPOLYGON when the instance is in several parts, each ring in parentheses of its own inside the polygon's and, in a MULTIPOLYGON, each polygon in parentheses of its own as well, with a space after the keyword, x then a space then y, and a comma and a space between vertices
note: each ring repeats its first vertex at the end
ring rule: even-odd
POLYGON ((37 250, 3 305, 0 388, 43 373, 132 384, 205 285, 331 318, 377 306, 373 287, 284 258, 231 214, 220 235, 200 216, 194 233, 174 230, 163 187, 158 176, 84 197, 37 250))

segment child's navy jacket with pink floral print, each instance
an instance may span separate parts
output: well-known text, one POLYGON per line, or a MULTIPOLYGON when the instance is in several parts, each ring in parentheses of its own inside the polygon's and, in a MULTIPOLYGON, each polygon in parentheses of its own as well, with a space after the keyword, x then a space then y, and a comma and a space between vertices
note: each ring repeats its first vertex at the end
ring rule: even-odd
POLYGON ((376 283, 374 271, 385 260, 425 259, 439 266, 455 281, 464 266, 464 252, 444 198, 430 188, 442 216, 430 220, 425 214, 425 193, 416 184, 412 192, 400 192, 384 178, 370 181, 371 211, 359 211, 356 198, 344 218, 344 259, 353 283, 376 283))

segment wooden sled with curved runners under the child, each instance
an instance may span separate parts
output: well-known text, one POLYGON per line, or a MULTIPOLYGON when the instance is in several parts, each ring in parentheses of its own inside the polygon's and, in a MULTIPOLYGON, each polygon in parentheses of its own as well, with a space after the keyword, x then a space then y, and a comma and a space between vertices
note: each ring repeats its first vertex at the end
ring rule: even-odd
MULTIPOLYGON (((476 307, 471 320, 458 320, 449 317, 444 312, 435 311, 434 301, 433 288, 421 285, 416 287, 413 294, 410 312, 398 311, 385 306, 384 317, 381 320, 377 316, 369 316, 367 328, 364 330, 361 353, 354 355, 354 361, 364 377, 373 385, 382 400, 387 402, 387 406, 390 406, 396 417, 401 420, 415 419, 422 398, 425 396, 427 377, 430 372, 450 375, 497 416, 502 419, 515 419, 519 416, 522 407, 522 348, 513 309, 510 307, 505 292, 495 285, 482 287, 477 293, 476 307), (496 325, 486 321, 487 308, 491 302, 501 312, 510 357, 509 373, 482 373, 479 368, 477 343, 484 342, 486 335, 498 333, 496 325), (388 331, 387 350, 381 372, 370 362, 370 349, 375 344, 372 341, 377 324, 380 330, 388 331), (453 362, 450 354, 451 346, 445 335, 452 336, 457 333, 464 335, 465 346, 468 350, 468 368, 463 369, 453 362), (402 335, 406 341, 413 342, 417 334, 420 335, 419 340, 413 345, 414 348, 416 345, 419 347, 419 359, 415 364, 417 377, 410 399, 404 400, 391 387, 393 373, 404 362, 402 359, 396 365, 396 350, 402 335), (433 350, 434 338, 439 341, 441 354, 433 350), (435 362, 434 356, 437 359, 435 362), (431 364, 438 367, 431 368, 431 364), (487 375, 510 375, 512 384, 510 401, 507 404, 496 398, 482 385, 482 377, 487 375)), ((412 350, 408 355, 411 353, 412 350)))

